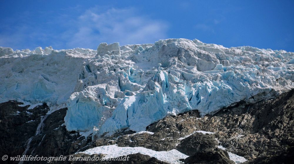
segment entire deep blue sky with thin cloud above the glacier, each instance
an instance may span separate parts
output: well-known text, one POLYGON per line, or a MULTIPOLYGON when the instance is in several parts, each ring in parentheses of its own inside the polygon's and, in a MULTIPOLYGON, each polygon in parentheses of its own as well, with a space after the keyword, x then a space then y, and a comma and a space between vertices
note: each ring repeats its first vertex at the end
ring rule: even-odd
POLYGON ((2 0, 0 46, 96 49, 196 38, 294 52, 293 8, 294 1, 2 0))

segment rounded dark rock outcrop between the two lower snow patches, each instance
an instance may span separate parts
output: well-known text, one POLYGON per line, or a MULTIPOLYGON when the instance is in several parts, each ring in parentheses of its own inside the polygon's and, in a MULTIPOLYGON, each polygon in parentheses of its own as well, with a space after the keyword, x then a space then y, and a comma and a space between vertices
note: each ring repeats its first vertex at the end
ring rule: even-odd
POLYGON ((190 156, 208 148, 214 149, 217 145, 218 143, 214 135, 194 133, 188 138, 183 139, 177 146, 177 150, 190 156))

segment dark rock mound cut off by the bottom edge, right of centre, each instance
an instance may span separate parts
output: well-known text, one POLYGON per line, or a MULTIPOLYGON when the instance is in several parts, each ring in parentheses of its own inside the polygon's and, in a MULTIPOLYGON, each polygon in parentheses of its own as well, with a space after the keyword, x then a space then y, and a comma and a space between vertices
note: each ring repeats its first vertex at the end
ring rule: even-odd
POLYGON ((188 164, 234 164, 230 160, 228 153, 218 148, 208 148, 198 151, 194 155, 186 158, 184 162, 188 164))

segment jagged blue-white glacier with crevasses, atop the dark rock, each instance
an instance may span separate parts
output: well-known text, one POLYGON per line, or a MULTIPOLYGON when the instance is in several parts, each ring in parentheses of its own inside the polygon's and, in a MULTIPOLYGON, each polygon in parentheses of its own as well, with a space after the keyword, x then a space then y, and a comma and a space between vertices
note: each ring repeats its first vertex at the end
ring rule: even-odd
POLYGON ((0 102, 67 107, 68 131, 136 132, 167 115, 214 114, 294 88, 294 53, 197 39, 97 50, 0 47, 0 102))

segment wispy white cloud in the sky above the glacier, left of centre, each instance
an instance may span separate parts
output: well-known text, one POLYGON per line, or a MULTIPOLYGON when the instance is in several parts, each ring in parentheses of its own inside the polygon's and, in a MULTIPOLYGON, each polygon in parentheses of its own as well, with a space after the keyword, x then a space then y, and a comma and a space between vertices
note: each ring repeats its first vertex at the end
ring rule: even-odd
POLYGON ((75 30, 66 31, 68 47, 97 47, 101 42, 125 44, 153 43, 166 38, 166 22, 138 15, 135 9, 94 7, 73 21, 75 30))

